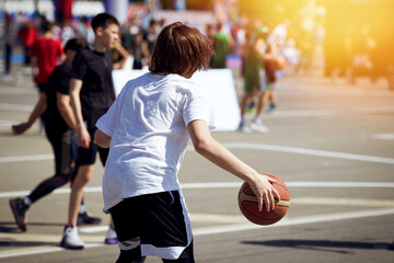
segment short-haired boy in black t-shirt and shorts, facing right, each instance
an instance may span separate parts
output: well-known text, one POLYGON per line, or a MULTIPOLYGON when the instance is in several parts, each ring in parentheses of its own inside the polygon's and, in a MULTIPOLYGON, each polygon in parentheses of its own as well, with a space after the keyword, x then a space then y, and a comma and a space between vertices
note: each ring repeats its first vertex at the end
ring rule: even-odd
MULTIPOLYGON (((83 249, 84 243, 78 236, 78 204, 81 203, 83 188, 93 175, 97 152, 103 165, 108 149, 93 142, 96 121, 106 113, 115 101, 112 69, 121 68, 129 54, 119 43, 119 22, 108 13, 100 13, 92 20, 94 42, 80 50, 73 61, 70 80, 70 99, 77 122, 77 145, 79 146, 78 173, 72 183, 68 222, 60 245, 66 249, 83 249), (113 64, 112 52, 115 47, 121 59, 113 64)), ((106 243, 117 243, 113 228, 109 228, 106 243)))

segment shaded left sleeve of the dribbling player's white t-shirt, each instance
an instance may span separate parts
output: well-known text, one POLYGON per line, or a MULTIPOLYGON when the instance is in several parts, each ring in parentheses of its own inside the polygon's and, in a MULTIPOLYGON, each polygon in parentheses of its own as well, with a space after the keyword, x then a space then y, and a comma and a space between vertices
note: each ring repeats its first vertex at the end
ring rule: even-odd
POLYGON ((116 98, 115 102, 108 108, 106 114, 101 116, 96 123, 96 127, 109 137, 113 137, 113 133, 119 116, 121 101, 126 93, 124 90, 125 89, 121 90, 120 94, 116 98))

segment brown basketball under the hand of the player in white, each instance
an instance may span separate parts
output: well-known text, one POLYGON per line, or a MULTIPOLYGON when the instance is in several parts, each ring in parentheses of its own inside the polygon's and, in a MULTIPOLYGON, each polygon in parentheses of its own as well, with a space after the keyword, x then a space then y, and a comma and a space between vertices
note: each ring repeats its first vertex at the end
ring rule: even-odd
POLYGON ((239 192, 239 206, 242 214, 251 221, 257 225, 273 225, 282 219, 290 207, 290 193, 285 184, 278 176, 274 174, 264 173, 269 178, 276 180, 273 183, 276 191, 280 195, 280 202, 276 199, 275 210, 267 211, 263 206, 263 210, 258 210, 258 202, 256 195, 253 193, 248 183, 244 182, 239 192))

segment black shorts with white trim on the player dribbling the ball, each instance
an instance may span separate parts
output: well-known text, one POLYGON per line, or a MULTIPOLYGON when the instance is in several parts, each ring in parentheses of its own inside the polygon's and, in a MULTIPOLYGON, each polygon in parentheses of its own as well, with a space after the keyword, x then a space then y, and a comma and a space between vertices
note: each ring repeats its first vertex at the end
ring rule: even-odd
MULTIPOLYGON (((193 259, 192 226, 181 191, 140 195, 109 209, 120 250, 140 249, 141 255, 166 260, 193 259)), ((192 262, 192 261, 190 261, 192 262)))

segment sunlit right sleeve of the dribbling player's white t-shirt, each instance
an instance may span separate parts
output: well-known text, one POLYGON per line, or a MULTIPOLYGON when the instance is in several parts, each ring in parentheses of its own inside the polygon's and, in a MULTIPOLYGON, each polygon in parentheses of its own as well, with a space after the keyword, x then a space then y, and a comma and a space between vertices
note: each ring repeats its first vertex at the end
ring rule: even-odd
MULTIPOLYGON (((201 89, 197 87, 197 89, 201 89)), ((184 102, 183 118, 187 126, 190 122, 201 119, 207 123, 209 129, 215 129, 213 110, 209 99, 202 91, 189 92, 184 102)))

